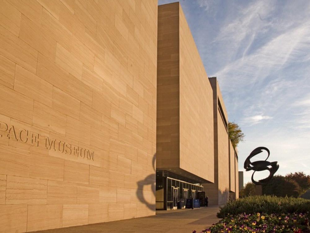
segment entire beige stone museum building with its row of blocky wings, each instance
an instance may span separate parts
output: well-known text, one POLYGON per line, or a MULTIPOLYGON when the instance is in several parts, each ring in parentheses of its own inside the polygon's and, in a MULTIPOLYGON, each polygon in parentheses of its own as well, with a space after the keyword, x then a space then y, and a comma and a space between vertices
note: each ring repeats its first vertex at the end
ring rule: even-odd
POLYGON ((179 3, 157 4, 2 0, 1 232, 154 215, 157 175, 178 201, 237 193, 219 87, 179 3))

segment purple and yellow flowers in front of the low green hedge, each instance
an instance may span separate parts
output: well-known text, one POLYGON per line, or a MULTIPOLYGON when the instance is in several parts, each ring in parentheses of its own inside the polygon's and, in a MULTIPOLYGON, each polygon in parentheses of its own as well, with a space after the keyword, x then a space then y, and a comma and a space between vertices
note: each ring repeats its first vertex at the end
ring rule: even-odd
POLYGON ((292 214, 237 214, 228 215, 218 223, 202 232, 310 232, 310 213, 292 214))

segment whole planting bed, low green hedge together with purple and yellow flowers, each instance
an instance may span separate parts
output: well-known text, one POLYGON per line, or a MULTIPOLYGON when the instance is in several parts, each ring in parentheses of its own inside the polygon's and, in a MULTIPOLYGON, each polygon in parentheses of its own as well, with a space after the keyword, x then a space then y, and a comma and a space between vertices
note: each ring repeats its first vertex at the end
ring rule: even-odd
POLYGON ((202 232, 310 233, 309 211, 306 199, 250 196, 226 203, 223 219, 202 232))

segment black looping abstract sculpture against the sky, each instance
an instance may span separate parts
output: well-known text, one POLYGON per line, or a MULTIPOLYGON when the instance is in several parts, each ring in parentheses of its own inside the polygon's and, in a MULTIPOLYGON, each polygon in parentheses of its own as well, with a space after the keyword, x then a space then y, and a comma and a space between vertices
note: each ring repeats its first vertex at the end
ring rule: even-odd
POLYGON ((253 174, 252 174, 252 182, 255 185, 262 185, 264 183, 267 183, 269 180, 271 180, 272 176, 276 173, 276 171, 279 169, 279 165, 277 164, 277 162, 268 162, 267 159, 269 158, 270 152, 268 150, 268 148, 266 147, 258 147, 255 148, 250 155, 248 156, 248 158, 246 158, 246 161, 244 161, 244 169, 246 169, 246 171, 250 171, 253 170, 253 174), (250 159, 253 158, 255 155, 262 153, 263 150, 268 152, 268 156, 265 160, 259 160, 259 161, 255 161, 255 162, 251 162, 250 159), (254 173, 256 171, 264 171, 264 170, 268 170, 269 171, 269 176, 265 179, 259 180, 259 181, 255 181, 253 179, 254 173))

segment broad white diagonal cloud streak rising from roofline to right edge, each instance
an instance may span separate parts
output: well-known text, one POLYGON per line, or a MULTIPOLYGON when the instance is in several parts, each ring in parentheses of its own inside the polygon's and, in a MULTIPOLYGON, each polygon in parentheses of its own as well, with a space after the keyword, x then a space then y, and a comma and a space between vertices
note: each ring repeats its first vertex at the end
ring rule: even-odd
POLYGON ((262 82, 287 62, 306 55, 309 39, 310 21, 278 35, 255 52, 232 61, 215 74, 219 77, 222 90, 230 89, 231 83, 242 88, 249 83, 262 82))

